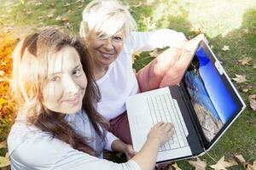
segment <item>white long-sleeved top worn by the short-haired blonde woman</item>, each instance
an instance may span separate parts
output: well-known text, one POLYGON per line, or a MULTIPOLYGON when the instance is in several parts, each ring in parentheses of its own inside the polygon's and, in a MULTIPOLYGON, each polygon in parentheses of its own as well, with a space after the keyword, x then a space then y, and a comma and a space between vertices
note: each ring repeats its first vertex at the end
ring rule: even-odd
POLYGON ((102 100, 97 110, 108 121, 123 113, 126 99, 137 94, 138 84, 132 69, 132 54, 154 48, 180 48, 187 40, 181 32, 161 29, 150 32, 131 32, 125 39, 124 48, 118 58, 109 65, 107 73, 96 81, 102 100))

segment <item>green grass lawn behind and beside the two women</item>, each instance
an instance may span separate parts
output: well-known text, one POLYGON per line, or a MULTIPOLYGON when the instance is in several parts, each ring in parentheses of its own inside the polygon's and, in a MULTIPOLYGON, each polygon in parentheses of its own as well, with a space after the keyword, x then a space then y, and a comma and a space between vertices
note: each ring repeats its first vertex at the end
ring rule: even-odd
MULTIPOLYGON (((27 27, 49 25, 64 26, 78 32, 81 12, 89 1, 3 1, 0 4, 0 31, 8 32, 27 27), (41 4, 40 4, 41 2, 41 4), (56 20, 58 19, 60 20, 56 20)), ((255 0, 230 1, 185 1, 185 0, 125 0, 131 6, 131 13, 138 23, 139 31, 168 27, 183 31, 187 37, 195 37, 204 33, 213 46, 212 50, 223 62, 228 75, 233 78, 236 74, 247 76, 247 82, 235 83, 240 89, 241 97, 247 104, 247 109, 238 117, 224 136, 214 145, 208 155, 202 156, 207 164, 215 164, 222 156, 232 158, 241 154, 247 161, 256 160, 256 116, 250 109, 248 95, 256 94, 256 74, 253 65, 256 64, 256 37, 253 27, 256 26, 255 0), (224 45, 229 51, 223 51, 224 45), (238 60, 252 58, 250 65, 238 65, 238 60), (251 85, 247 93, 241 89, 251 85), (211 158, 211 157, 213 158, 211 158)), ((21 32, 21 31, 18 31, 21 32)), ((147 53, 140 54, 135 60, 134 67, 139 70, 152 58, 147 53)), ((113 156, 113 159, 117 159, 113 156)), ((177 161, 183 169, 193 169, 187 161, 177 161)), ((207 167, 210 168, 210 167, 207 167)), ((238 166, 235 169, 243 169, 238 166)))

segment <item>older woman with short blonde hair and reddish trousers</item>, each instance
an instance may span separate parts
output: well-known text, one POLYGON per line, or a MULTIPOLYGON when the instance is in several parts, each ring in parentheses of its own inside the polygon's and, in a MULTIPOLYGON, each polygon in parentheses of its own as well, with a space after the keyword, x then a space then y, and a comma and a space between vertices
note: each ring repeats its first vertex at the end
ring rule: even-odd
POLYGON ((94 61, 94 76, 102 94, 97 110, 111 124, 114 135, 131 144, 125 100, 132 94, 177 84, 202 35, 187 41, 170 29, 138 32, 129 8, 118 0, 93 0, 83 11, 80 36, 94 61), (137 74, 132 54, 168 48, 137 74))

